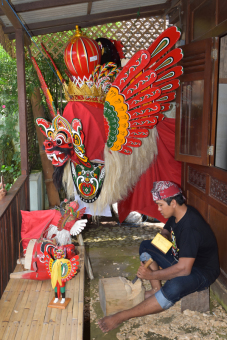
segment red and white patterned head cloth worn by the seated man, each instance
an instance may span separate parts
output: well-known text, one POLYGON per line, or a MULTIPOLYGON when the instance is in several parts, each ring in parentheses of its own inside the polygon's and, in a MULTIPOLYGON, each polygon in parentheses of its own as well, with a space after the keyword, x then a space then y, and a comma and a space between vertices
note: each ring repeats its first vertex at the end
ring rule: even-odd
POLYGON ((160 181, 154 182, 151 190, 153 201, 163 200, 168 197, 174 197, 182 193, 181 189, 173 182, 160 181))

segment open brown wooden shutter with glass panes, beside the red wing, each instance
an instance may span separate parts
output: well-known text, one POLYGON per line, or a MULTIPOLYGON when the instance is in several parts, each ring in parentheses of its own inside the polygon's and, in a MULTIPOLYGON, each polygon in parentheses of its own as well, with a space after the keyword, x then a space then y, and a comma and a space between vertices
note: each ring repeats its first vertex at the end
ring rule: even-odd
MULTIPOLYGON (((218 38, 182 46, 184 74, 177 91, 176 150, 178 161, 210 165, 211 117, 217 92, 218 38)), ((215 108, 216 110, 216 108, 215 108)))

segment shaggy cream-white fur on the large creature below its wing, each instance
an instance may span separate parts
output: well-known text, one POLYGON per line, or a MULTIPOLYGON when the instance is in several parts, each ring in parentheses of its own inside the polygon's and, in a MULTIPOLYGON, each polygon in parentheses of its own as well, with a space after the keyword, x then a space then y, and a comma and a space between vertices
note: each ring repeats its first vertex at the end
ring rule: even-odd
MULTIPOLYGON (((149 130, 149 136, 143 138, 139 148, 132 148, 131 155, 123 155, 117 151, 111 151, 106 145, 104 149, 105 180, 96 202, 92 203, 94 211, 102 211, 106 205, 119 202, 126 198, 138 182, 140 176, 149 168, 157 156, 156 127, 149 130)), ((74 184, 71 175, 70 161, 65 166, 62 179, 67 197, 74 196, 74 184)))

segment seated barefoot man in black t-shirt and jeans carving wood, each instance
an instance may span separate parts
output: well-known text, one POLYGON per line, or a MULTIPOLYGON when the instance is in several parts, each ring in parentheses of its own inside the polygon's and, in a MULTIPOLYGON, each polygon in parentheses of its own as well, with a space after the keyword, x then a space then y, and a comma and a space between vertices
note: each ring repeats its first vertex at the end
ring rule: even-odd
POLYGON ((181 189, 172 182, 155 182, 152 195, 160 213, 168 218, 161 234, 173 246, 163 254, 151 240, 141 243, 142 262, 137 276, 150 280, 152 289, 145 293, 145 300, 139 305, 99 320, 103 332, 128 319, 162 312, 182 297, 206 289, 219 276, 215 236, 200 213, 184 203, 181 189), (143 262, 150 257, 153 262, 145 268, 143 262), (166 280, 163 286, 161 280, 166 280))

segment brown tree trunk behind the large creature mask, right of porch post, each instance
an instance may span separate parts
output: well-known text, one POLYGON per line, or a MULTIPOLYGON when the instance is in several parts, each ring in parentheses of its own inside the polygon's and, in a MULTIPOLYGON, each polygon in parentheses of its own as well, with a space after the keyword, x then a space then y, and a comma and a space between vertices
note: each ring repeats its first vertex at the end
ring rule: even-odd
MULTIPOLYGON (((32 112, 34 120, 36 118, 45 118, 44 110, 41 103, 41 94, 40 89, 36 88, 35 91, 32 94, 31 97, 31 103, 32 103, 32 112)), ((39 127, 36 125, 36 132, 39 142, 39 153, 41 157, 42 167, 43 167, 43 173, 44 173, 44 181, 46 185, 47 190, 47 196, 49 201, 50 208, 54 207, 55 205, 60 204, 60 198, 58 191, 53 183, 53 172, 54 167, 51 163, 51 161, 47 158, 45 151, 43 150, 43 142, 46 140, 46 137, 42 134, 39 127)))

